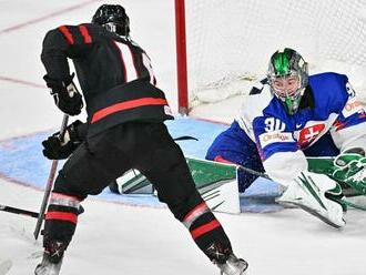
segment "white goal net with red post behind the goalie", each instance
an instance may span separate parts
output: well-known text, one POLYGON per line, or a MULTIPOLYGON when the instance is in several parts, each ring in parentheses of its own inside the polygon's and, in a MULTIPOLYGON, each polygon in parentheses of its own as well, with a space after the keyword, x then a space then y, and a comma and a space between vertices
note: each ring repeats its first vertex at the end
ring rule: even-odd
POLYGON ((245 94, 288 47, 366 94, 366 0, 175 0, 179 109, 245 94))

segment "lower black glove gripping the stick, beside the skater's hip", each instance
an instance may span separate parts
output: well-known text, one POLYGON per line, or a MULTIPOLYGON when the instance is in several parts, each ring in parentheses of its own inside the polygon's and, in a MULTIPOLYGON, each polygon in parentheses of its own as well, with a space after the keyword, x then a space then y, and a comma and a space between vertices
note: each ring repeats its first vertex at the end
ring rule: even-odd
POLYGON ((77 120, 65 131, 63 141, 60 140, 60 132, 57 132, 42 142, 43 155, 49 160, 64 160, 72 154, 80 145, 82 139, 78 133, 78 126, 82 122, 77 120))

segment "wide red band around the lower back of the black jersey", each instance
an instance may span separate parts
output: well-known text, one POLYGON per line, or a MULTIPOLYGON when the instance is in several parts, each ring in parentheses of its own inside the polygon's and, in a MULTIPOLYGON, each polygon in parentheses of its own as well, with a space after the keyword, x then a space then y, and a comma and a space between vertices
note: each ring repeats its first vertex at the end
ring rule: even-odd
POLYGON ((116 103, 95 112, 93 114, 91 123, 94 123, 112 113, 134 109, 138 106, 146 106, 146 105, 167 105, 167 101, 165 99, 143 98, 143 99, 130 100, 130 101, 116 103))

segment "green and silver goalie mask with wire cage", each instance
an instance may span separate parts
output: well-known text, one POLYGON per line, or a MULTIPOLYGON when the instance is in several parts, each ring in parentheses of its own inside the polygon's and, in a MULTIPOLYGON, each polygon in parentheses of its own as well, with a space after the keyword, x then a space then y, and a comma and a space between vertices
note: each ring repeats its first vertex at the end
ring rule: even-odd
POLYGON ((267 78, 272 93, 294 114, 308 83, 307 63, 293 49, 276 51, 268 64, 267 78))

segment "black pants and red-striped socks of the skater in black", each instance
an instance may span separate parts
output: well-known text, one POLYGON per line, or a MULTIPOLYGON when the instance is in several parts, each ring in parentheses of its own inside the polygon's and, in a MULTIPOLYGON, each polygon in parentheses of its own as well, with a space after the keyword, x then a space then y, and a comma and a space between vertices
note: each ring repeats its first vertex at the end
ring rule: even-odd
POLYGON ((230 241, 195 189, 180 146, 163 123, 130 122, 116 125, 83 142, 65 162, 54 183, 45 215, 43 245, 69 244, 74 233, 80 202, 96 195, 113 180, 136 169, 153 183, 161 202, 191 232, 211 258, 209 246, 231 251, 230 241))

